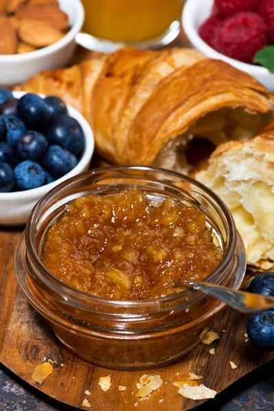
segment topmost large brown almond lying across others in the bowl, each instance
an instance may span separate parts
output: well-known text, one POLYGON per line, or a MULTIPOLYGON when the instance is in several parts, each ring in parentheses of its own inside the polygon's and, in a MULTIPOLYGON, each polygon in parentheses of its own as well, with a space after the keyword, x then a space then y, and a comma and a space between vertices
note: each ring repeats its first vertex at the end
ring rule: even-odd
POLYGON ((67 14, 52 4, 22 4, 18 7, 17 16, 18 18, 44 21, 60 30, 69 26, 67 14))

